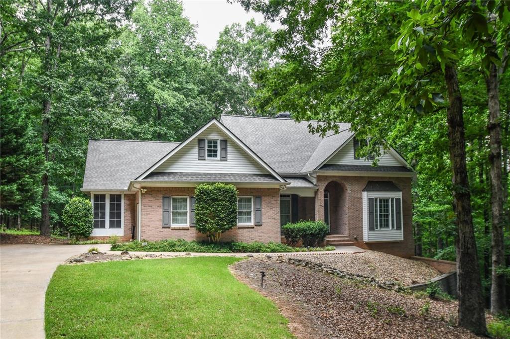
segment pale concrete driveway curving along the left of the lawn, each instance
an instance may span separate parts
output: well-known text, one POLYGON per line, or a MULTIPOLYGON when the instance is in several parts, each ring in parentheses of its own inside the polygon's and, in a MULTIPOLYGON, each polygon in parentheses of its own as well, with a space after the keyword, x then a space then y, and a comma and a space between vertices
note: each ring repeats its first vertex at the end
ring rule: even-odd
POLYGON ((0 338, 44 338, 44 296, 58 265, 90 247, 110 245, 0 246, 0 338))

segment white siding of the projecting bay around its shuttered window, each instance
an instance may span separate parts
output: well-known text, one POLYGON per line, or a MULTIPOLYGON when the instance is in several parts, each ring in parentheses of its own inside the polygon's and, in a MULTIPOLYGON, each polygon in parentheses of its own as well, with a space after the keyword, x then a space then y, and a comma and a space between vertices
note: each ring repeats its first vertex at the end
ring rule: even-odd
MULTIPOLYGON (((400 230, 368 230, 368 199, 371 197, 400 198, 400 204, 402 204, 402 192, 363 192, 363 240, 367 242, 404 240, 404 224, 402 214, 400 215, 402 225, 400 230)), ((402 208, 400 211, 402 211, 402 208)))

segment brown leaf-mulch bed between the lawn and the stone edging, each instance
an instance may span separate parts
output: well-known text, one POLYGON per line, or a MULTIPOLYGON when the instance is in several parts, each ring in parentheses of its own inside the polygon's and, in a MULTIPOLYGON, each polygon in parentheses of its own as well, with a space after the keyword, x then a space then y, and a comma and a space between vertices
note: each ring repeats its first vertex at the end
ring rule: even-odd
POLYGON ((457 316, 455 301, 418 299, 274 258, 243 260, 231 271, 273 300, 300 338, 476 337, 452 326, 457 316), (264 289, 260 271, 266 273, 264 289))

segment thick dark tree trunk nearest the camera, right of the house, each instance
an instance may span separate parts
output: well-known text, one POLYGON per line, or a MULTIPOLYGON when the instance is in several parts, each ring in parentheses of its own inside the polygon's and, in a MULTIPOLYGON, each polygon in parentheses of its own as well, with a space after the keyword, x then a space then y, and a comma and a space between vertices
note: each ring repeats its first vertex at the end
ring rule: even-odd
POLYGON ((487 327, 483 309, 478 255, 471 215, 471 193, 466 166, 462 95, 458 88, 455 66, 447 65, 445 67, 445 82, 449 101, 447 120, 448 144, 453 167, 453 209, 456 215, 458 232, 458 324, 476 334, 486 334, 487 327))

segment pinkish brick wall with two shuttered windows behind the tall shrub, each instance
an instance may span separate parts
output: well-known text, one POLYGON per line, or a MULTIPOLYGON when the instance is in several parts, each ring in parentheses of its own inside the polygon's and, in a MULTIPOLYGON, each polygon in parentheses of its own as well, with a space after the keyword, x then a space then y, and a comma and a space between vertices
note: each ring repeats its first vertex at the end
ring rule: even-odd
MULTIPOLYGON (((280 241, 279 188, 238 188, 239 195, 262 196, 262 225, 235 227, 223 233, 222 241, 280 241)), ((163 196, 193 196, 193 187, 146 187, 142 194, 142 239, 155 241, 162 239, 207 240, 207 237, 188 229, 162 227, 163 196)))

